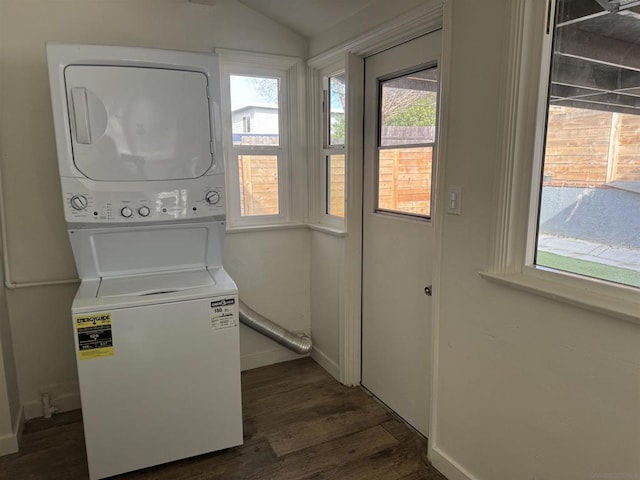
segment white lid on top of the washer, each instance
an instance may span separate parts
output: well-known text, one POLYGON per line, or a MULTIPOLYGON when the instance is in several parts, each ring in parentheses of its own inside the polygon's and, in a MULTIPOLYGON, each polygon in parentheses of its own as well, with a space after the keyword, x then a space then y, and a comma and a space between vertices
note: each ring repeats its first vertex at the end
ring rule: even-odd
POLYGON ((215 284, 206 269, 103 278, 98 287, 97 298, 162 295, 214 287, 215 284))

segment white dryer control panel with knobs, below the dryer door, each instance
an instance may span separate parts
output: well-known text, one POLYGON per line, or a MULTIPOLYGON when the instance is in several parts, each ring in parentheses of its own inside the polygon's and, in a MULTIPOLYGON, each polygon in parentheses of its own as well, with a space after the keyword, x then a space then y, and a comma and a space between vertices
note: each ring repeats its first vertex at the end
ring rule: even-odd
POLYGON ((127 182, 100 188, 100 182, 62 178, 64 215, 69 223, 141 223, 224 217, 224 174, 197 180, 127 182))

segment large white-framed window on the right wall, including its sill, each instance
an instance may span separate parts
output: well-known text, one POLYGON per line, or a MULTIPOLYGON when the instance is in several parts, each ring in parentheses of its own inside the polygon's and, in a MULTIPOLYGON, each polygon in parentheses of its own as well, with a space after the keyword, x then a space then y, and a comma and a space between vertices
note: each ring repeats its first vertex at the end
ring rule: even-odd
POLYGON ((496 247, 483 275, 639 321, 640 4, 546 3, 509 7, 496 247))

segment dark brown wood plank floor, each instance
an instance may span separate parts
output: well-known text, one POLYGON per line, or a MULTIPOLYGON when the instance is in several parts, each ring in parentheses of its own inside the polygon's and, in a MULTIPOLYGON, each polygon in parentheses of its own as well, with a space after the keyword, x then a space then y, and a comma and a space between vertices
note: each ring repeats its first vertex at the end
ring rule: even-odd
MULTIPOLYGON (((243 372, 242 394, 244 445, 114 478, 446 480, 424 438, 309 358, 243 372)), ((0 457, 3 480, 86 478, 79 410, 28 421, 20 452, 0 457)))

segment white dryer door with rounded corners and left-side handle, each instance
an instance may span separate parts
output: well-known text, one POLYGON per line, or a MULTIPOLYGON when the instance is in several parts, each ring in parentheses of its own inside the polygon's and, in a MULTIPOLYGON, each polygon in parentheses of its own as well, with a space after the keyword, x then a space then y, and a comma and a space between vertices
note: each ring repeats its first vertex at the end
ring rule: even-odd
POLYGON ((65 82, 73 161, 86 177, 189 179, 212 167, 205 74, 71 65, 65 82))

